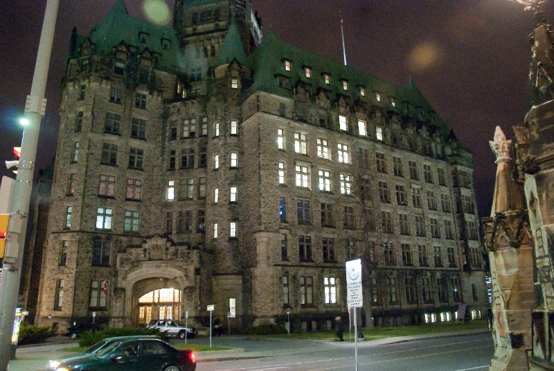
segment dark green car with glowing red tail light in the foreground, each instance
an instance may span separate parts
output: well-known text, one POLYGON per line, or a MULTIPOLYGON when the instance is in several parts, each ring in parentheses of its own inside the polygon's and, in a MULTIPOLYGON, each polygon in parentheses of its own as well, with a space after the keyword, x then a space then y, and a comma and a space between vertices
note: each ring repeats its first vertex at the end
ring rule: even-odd
MULTIPOLYGON (((195 354, 150 336, 125 336, 94 354, 64 359, 55 371, 194 371, 195 354)), ((47 369, 48 370, 48 369, 47 369)))

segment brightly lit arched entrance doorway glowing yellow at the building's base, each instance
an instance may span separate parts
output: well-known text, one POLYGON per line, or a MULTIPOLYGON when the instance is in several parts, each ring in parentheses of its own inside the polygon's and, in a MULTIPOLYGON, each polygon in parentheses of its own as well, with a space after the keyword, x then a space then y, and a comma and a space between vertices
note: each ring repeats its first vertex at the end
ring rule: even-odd
POLYGON ((179 320, 182 291, 176 288, 158 288, 139 297, 138 324, 147 325, 151 319, 179 320))

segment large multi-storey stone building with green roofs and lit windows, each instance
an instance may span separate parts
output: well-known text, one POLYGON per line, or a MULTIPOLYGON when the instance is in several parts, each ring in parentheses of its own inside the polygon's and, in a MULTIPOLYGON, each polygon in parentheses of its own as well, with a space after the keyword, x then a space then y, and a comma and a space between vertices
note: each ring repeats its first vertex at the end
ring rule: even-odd
POLYGON ((330 327, 345 261, 367 325, 487 297, 472 154, 418 87, 262 37, 249 1, 123 0, 73 33, 36 322, 330 327), (234 322, 234 323, 233 323, 234 322))

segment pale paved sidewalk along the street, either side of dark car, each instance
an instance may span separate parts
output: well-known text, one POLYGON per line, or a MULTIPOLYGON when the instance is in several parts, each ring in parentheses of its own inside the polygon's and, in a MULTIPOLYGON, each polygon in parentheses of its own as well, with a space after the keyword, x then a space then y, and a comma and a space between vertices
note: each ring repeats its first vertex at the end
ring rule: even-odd
MULTIPOLYGON (((398 336, 395 338, 383 338, 378 340, 365 340, 358 343, 358 347, 376 347, 379 345, 405 343, 413 340, 421 340, 427 338, 449 338, 456 336, 471 336, 474 334, 488 333, 488 329, 445 332, 440 334, 425 334, 415 336, 398 336)), ((60 340, 60 339, 54 339, 60 340)), ((305 340, 305 339, 289 339, 289 338, 263 338, 259 341, 278 341, 290 343, 291 347, 269 347, 265 350, 249 349, 252 339, 244 336, 234 336, 238 344, 243 343, 246 347, 238 347, 233 350, 217 351, 217 352, 199 352, 197 353, 197 362, 213 362, 224 361, 229 359, 247 359, 261 358, 267 356, 283 356, 287 354, 303 354, 313 352, 314 350, 321 351, 336 347, 354 347, 354 342, 338 342, 334 340, 305 340), (249 341, 247 341, 249 340, 249 341), (301 346, 297 344, 301 343, 301 346)), ((68 351, 69 348, 77 347, 76 341, 61 339, 62 343, 46 343, 41 345, 23 346, 17 348, 15 360, 10 361, 8 371, 42 371, 46 367, 46 362, 49 359, 60 359, 63 356, 75 354, 68 351)))

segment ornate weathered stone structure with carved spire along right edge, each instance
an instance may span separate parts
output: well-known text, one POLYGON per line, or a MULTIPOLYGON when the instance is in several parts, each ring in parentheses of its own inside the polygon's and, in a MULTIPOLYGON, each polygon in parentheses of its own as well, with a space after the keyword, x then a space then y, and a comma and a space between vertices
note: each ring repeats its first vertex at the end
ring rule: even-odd
POLYGON ((497 184, 483 218, 493 284, 494 356, 490 370, 554 370, 554 56, 544 1, 530 35, 530 98, 512 140, 497 127, 497 184), (534 295, 532 295, 534 293, 534 295))

